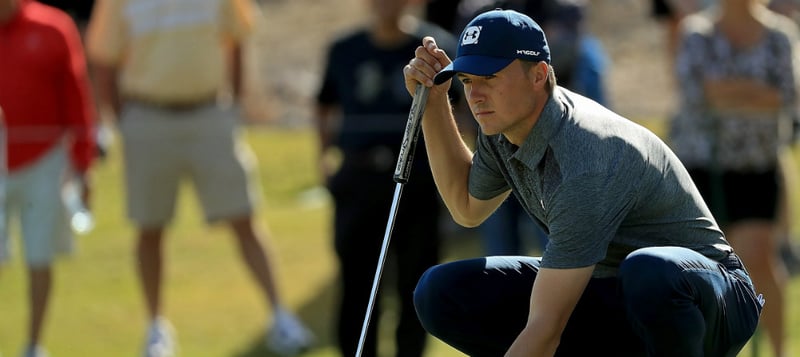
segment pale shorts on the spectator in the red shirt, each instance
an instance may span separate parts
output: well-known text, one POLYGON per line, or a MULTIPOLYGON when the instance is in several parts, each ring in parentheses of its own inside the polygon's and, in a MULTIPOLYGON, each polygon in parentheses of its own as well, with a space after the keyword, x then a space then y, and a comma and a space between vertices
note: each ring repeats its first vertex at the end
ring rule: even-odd
POLYGON ((74 239, 61 199, 66 167, 66 150, 58 144, 32 165, 8 175, 0 230, 0 262, 11 257, 8 235, 12 218, 19 219, 28 266, 46 267, 56 254, 72 253, 74 239))

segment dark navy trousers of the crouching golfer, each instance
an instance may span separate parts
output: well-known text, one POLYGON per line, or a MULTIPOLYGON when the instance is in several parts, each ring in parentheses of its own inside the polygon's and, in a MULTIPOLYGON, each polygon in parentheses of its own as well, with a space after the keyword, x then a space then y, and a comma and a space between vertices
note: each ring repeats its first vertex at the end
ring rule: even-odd
MULTIPOLYGON (((503 356, 527 321, 539 263, 495 256, 432 267, 415 290, 417 315, 469 356, 503 356)), ((555 355, 733 357, 761 308, 736 255, 717 262, 686 248, 643 248, 617 277, 590 280, 555 355)))

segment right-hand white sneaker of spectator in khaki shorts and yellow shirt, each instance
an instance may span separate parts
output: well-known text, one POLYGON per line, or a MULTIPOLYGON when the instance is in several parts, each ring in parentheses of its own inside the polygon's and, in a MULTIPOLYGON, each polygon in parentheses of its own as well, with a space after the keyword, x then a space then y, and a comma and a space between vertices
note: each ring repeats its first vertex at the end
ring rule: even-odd
POLYGON ((302 353, 314 344, 314 335, 290 312, 279 309, 267 333, 267 348, 282 356, 302 353))

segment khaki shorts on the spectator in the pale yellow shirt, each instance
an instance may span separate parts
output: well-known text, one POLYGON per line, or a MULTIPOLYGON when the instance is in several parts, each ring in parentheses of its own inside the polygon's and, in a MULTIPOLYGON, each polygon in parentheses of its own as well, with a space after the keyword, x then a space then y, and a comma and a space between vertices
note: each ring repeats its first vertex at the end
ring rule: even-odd
POLYGON ((252 214, 257 162, 238 118, 238 110, 215 105, 170 111, 126 104, 120 132, 128 217, 140 228, 164 227, 183 179, 193 184, 207 222, 252 214))

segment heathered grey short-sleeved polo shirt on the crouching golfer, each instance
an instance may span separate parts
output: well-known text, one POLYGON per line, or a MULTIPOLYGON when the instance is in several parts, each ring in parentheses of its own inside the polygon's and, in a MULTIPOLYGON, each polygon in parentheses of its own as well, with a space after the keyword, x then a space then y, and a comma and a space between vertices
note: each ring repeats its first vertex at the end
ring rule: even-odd
POLYGON ((681 246, 714 260, 731 247, 686 169, 651 131, 558 87, 528 138, 478 137, 470 194, 512 189, 549 235, 542 266, 597 264, 616 274, 630 252, 681 246))

